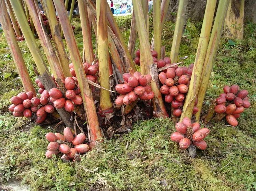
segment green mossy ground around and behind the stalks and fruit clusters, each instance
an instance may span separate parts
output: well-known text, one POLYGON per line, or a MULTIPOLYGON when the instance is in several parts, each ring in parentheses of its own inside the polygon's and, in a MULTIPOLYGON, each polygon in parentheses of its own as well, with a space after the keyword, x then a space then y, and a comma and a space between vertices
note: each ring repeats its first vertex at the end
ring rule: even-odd
MULTIPOLYGON (((130 16, 117 18, 125 41, 129 38, 130 16)), ((75 18, 75 35, 82 51, 82 33, 75 18)), ((187 22, 180 57, 193 63, 201 23, 187 22)), ((152 24, 151 24, 152 29, 152 24)), ((162 44, 169 55, 174 24, 166 22, 162 44)), ((170 119, 139 121, 128 134, 115 135, 82 156, 81 162, 65 163, 46 159, 44 135, 53 129, 14 118, 7 112, 9 99, 22 90, 10 50, 0 37, 0 183, 18 179, 31 190, 255 190, 256 189, 256 25, 246 23, 244 40, 230 46, 223 38, 219 45, 203 112, 224 85, 248 89, 251 108, 239 118, 237 127, 224 120, 211 123, 208 148, 197 151, 195 159, 170 141, 174 131, 170 119), (127 146, 128 145, 128 146, 127 146)), ((152 36, 152 33, 151 33, 152 36)), ((94 36, 95 37, 95 36, 94 36)), ((93 40, 95 47, 95 38, 93 40)), ((33 59, 26 42, 19 42, 32 78, 33 59)), ((139 47, 137 41, 136 47, 139 47)), ((42 48, 40 47, 42 50, 42 48)), ((43 51, 43 50, 42 50, 43 51)), ((68 50, 67 50, 68 51, 68 50)), ((44 57, 45 59, 45 57, 44 57)), ((46 59, 45 59, 46 60, 46 59)))

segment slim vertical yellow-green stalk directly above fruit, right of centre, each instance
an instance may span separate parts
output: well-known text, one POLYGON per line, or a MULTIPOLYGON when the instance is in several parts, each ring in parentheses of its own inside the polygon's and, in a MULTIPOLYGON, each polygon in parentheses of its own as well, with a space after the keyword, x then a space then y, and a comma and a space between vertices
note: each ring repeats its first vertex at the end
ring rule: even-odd
POLYGON ((153 1, 153 24, 154 24, 154 50, 157 52, 157 59, 161 58, 161 2, 160 0, 153 1))

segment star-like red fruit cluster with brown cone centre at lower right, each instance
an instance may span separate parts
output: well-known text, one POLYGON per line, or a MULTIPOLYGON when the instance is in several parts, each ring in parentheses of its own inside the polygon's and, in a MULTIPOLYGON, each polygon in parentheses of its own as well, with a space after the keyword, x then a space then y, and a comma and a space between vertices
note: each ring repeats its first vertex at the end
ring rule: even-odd
POLYGON ((203 139, 210 133, 208 128, 201 128, 199 123, 191 124, 188 117, 176 123, 175 128, 176 132, 171 135, 171 140, 179 143, 181 149, 187 149, 191 143, 198 149, 206 149, 207 143, 203 139))

